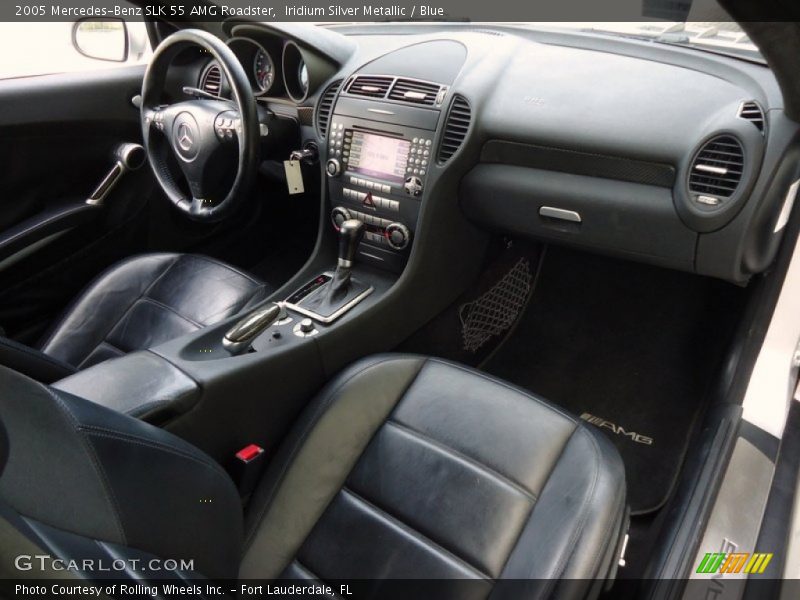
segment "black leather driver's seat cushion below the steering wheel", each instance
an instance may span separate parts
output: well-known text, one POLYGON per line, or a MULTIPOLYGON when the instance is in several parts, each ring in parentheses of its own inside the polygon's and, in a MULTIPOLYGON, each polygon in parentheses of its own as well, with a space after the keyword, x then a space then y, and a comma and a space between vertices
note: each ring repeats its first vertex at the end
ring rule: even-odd
POLYGON ((95 279, 41 350, 82 369, 222 321, 267 292, 264 283, 204 256, 137 256, 95 279))

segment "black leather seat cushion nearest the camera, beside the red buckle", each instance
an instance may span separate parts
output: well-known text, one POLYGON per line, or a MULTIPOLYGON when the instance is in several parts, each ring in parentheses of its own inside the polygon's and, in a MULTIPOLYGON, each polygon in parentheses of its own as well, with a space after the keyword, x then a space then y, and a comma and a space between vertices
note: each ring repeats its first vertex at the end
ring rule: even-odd
POLYGON ((479 597, 526 579, 538 597, 613 570, 625 476, 607 440, 544 400, 384 355, 314 400, 248 512, 244 578, 474 579, 479 597))

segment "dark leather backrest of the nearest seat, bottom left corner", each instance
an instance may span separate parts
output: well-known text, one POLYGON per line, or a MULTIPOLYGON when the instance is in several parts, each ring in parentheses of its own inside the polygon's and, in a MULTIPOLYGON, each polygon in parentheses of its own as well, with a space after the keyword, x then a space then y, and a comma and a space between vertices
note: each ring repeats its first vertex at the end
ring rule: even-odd
POLYGON ((55 556, 96 558, 79 555, 101 548, 236 576, 239 494, 191 444, 3 367, 0 424, 0 505, 55 556))

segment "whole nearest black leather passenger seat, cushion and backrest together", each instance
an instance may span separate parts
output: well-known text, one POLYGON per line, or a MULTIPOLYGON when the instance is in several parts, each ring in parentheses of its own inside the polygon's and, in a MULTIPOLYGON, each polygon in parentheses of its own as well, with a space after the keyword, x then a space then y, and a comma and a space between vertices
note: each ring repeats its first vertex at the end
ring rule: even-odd
POLYGON ((232 484, 189 444, 7 370, 0 388, 12 449, 0 499, 48 551, 57 528, 62 553, 99 539, 192 557, 214 577, 373 580, 371 597, 409 578, 436 598, 574 597, 613 576, 627 527, 605 438, 436 359, 377 356, 341 373, 271 460, 244 527, 232 484), (67 464, 46 459, 54 446, 67 464))

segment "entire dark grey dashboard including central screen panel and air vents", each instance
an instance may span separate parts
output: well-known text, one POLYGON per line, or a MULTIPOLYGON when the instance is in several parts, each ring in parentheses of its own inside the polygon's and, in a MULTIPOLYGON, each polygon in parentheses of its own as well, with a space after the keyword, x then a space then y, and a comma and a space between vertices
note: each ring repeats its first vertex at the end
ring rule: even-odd
MULTIPOLYGON (((260 102, 311 115, 333 226, 365 221, 362 258, 386 268, 448 235, 426 217, 447 202, 489 231, 744 284, 793 206, 797 124, 764 65, 499 25, 225 32, 260 102)), ((213 62, 198 83, 225 93, 213 62)))

